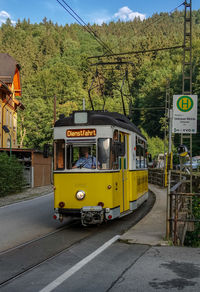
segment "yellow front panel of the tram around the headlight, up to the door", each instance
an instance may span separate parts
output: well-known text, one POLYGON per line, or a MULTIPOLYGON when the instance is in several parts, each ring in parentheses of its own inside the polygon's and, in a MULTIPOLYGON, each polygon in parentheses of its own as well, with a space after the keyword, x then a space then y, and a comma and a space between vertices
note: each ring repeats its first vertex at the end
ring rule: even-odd
POLYGON ((59 202, 65 203, 65 208, 81 209, 83 206, 97 206, 104 203, 104 208, 115 208, 122 204, 122 182, 120 172, 114 173, 58 173, 54 174, 55 208, 59 202), (83 200, 77 200, 77 191, 86 193, 83 200))

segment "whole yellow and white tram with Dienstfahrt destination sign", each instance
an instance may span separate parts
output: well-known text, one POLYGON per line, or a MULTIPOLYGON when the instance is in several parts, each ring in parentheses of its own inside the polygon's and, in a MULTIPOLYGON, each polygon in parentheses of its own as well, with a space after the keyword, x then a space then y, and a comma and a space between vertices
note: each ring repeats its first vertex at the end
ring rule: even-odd
POLYGON ((54 218, 113 220, 148 198, 147 143, 114 112, 75 111, 54 126, 54 218))

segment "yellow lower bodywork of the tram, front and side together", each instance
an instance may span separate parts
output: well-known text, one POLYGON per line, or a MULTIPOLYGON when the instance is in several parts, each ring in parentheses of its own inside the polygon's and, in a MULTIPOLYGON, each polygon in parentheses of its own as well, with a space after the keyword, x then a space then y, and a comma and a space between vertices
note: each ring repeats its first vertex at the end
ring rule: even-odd
POLYGON ((120 207, 120 213, 130 209, 130 202, 138 200, 148 192, 147 170, 105 173, 54 173, 54 207, 64 202, 66 209, 81 209, 84 206, 104 208, 120 207), (124 184, 124 192, 123 192, 124 184), (83 200, 76 199, 77 191, 84 191, 83 200))

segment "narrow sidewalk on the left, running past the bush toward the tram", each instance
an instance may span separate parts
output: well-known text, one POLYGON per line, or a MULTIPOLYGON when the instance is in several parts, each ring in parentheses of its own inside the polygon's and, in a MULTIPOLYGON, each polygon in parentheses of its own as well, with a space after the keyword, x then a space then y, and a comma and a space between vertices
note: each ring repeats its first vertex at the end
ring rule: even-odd
POLYGON ((24 200, 33 199, 35 197, 44 196, 51 192, 53 192, 52 185, 36 187, 36 188, 28 188, 18 194, 0 197, 0 207, 5 206, 5 205, 10 205, 16 202, 24 201, 24 200))

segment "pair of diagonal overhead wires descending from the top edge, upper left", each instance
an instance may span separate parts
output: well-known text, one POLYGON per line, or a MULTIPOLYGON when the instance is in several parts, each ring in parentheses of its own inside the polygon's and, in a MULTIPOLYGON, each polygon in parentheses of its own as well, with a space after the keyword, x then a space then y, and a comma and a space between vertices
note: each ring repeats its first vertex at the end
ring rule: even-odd
POLYGON ((87 25, 84 20, 64 1, 61 0, 63 3, 61 3, 59 0, 56 0, 67 13, 69 13, 107 52, 113 53, 113 51, 108 47, 106 43, 104 43, 101 38, 96 34, 93 29, 87 25), (70 9, 68 9, 66 6, 70 9))

